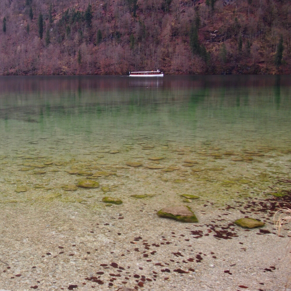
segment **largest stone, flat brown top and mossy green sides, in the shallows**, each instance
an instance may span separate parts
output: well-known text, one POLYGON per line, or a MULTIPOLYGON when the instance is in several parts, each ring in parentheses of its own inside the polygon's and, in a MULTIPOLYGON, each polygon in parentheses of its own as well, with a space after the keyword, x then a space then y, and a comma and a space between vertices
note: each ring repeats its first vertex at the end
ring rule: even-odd
POLYGON ((198 222, 197 217, 189 206, 170 206, 157 212, 159 217, 171 218, 182 222, 198 222))

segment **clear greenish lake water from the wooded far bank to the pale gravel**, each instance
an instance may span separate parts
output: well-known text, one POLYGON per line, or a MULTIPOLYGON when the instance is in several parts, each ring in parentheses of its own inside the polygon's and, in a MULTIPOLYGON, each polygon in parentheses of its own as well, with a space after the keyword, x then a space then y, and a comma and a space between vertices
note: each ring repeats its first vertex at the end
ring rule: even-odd
MULTIPOLYGON (((125 199, 131 192, 171 203, 181 202, 174 195, 181 191, 215 202, 261 194, 290 178, 290 80, 1 77, 0 199, 40 202, 44 192, 63 193, 62 185, 85 179, 68 174, 81 170, 114 171, 98 181, 125 199), (155 165, 160 168, 144 167, 155 165)), ((90 198, 83 203, 91 205, 90 198)))

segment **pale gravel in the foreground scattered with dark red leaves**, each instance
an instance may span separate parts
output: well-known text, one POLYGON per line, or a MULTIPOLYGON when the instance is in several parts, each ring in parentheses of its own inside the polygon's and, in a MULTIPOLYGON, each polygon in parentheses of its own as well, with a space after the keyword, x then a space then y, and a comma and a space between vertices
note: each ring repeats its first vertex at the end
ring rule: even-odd
POLYGON ((95 217, 81 205, 62 212, 57 205, 43 212, 37 205, 11 205, 1 213, 0 288, 283 290, 290 228, 278 237, 263 200, 250 215, 265 220, 263 228, 235 226, 232 221, 246 216, 241 211, 252 202, 196 211, 191 206, 198 223, 159 218, 148 205, 135 213, 107 207, 95 217))

